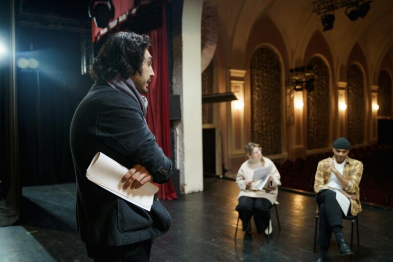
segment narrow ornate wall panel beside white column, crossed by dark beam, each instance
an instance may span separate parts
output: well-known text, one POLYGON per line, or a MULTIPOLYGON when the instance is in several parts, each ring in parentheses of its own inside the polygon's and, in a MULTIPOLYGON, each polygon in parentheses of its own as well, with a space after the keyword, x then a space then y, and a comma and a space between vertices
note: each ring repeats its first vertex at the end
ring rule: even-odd
MULTIPOLYGON (((202 73, 202 95, 213 93, 213 82, 214 82, 213 62, 210 62, 208 67, 202 73)), ((212 103, 202 104, 202 124, 212 124, 212 123, 213 123, 213 104, 212 103)))

